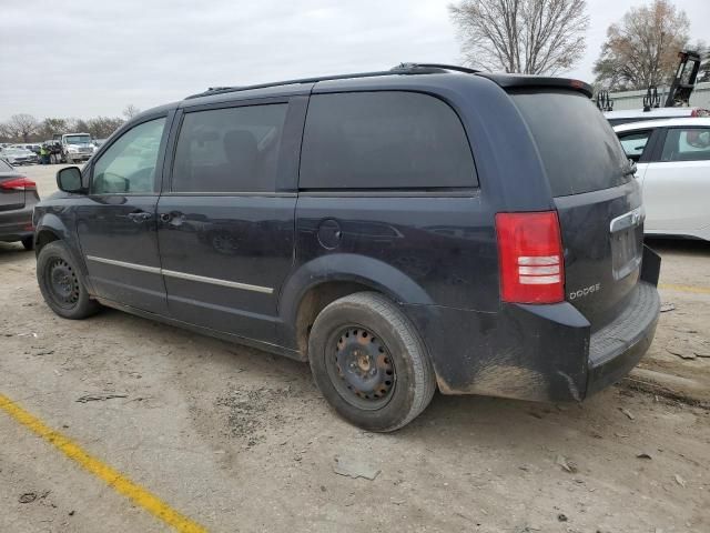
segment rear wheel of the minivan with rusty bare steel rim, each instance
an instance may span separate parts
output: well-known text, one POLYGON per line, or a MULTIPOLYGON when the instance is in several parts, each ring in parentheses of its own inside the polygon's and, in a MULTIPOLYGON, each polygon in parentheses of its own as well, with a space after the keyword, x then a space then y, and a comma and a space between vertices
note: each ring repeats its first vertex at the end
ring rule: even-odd
POLYGON ((367 431, 405 426, 434 395, 434 369, 424 342, 397 305, 375 292, 341 298, 321 311, 308 356, 328 403, 367 431))

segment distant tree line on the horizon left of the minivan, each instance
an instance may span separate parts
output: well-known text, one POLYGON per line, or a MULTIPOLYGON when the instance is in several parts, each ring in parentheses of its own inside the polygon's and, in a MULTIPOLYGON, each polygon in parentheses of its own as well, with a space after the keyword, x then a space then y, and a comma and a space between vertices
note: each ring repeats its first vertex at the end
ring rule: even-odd
POLYGON ((63 133, 89 133, 93 139, 105 139, 140 110, 128 105, 121 117, 91 119, 45 118, 38 120, 28 113, 18 113, 0 122, 0 142, 43 142, 63 133))

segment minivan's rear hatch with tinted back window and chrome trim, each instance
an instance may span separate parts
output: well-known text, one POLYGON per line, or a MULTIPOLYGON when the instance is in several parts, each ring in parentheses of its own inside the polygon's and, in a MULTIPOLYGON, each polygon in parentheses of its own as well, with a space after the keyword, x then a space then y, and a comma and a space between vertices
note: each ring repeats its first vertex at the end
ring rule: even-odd
POLYGON ((641 190, 604 115, 579 91, 516 90, 557 208, 565 294, 591 322, 612 321, 637 285, 643 252, 641 190))

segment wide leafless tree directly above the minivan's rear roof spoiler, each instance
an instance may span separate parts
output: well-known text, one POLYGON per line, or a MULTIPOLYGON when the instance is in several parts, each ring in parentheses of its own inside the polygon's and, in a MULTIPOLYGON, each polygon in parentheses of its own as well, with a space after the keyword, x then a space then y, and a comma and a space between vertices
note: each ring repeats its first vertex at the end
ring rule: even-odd
POLYGON ((585 52, 586 0, 464 0, 448 9, 471 67, 554 76, 585 52))

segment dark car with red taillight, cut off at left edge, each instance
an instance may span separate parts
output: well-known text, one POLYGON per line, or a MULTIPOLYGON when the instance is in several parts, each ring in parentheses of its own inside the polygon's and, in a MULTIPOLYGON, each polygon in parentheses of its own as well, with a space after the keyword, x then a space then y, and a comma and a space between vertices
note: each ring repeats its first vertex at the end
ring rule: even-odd
POLYGON ((39 201, 37 184, 0 158, 0 241, 21 241, 32 250, 32 209, 39 201))

